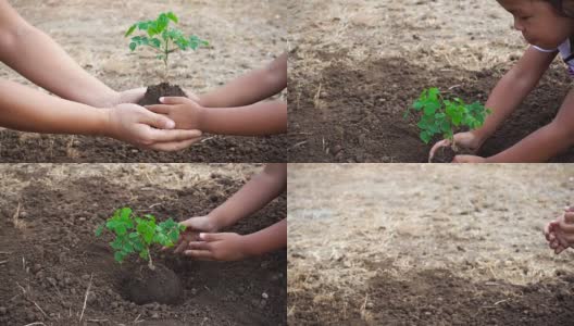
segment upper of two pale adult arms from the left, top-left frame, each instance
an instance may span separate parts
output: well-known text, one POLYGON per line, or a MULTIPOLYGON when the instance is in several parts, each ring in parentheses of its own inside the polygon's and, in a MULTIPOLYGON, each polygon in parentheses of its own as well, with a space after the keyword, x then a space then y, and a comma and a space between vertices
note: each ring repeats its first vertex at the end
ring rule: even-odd
POLYGON ((0 0, 0 61, 34 84, 67 100, 97 108, 136 102, 145 89, 123 93, 84 71, 48 35, 0 0))

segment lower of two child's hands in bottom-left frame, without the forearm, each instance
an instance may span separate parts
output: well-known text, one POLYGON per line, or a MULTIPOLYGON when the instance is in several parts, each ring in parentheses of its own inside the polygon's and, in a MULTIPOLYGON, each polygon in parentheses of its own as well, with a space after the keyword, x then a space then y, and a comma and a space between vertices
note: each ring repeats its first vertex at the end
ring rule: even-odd
POLYGON ((241 235, 200 234, 199 238, 202 241, 189 242, 185 255, 202 261, 239 261, 248 256, 241 235))

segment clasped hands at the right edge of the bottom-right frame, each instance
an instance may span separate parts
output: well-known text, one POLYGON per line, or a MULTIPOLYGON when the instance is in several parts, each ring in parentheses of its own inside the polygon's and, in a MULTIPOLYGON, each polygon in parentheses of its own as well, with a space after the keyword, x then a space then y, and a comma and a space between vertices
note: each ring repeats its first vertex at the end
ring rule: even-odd
POLYGON ((548 246, 559 254, 574 244, 574 206, 564 209, 564 214, 545 227, 548 246))

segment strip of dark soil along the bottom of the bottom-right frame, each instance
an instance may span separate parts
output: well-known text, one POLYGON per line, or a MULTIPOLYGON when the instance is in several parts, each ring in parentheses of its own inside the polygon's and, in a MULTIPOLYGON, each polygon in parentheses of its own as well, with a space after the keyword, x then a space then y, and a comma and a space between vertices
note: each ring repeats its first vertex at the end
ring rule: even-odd
POLYGON ((396 279, 373 278, 366 293, 345 297, 336 287, 328 303, 313 293, 289 294, 295 313, 289 325, 572 325, 574 276, 559 275, 539 284, 515 286, 490 280, 473 283, 446 269, 427 269, 396 279), (369 322, 361 317, 365 298, 369 322), (344 314, 344 311, 346 314, 344 314))

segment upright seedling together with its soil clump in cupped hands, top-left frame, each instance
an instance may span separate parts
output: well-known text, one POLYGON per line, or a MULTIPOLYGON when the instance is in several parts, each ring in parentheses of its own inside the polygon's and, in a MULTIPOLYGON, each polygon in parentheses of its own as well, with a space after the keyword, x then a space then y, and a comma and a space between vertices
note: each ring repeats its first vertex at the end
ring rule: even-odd
POLYGON ((197 50, 209 46, 207 40, 200 39, 196 35, 185 36, 184 33, 170 24, 177 24, 179 18, 173 12, 161 13, 154 21, 137 22, 125 33, 125 37, 132 37, 129 50, 137 48, 150 48, 157 52, 155 58, 163 62, 164 80, 154 86, 149 86, 140 105, 158 104, 158 99, 163 96, 185 97, 185 92, 177 85, 170 85, 169 62, 172 53, 177 51, 197 50), (138 32, 140 35, 132 36, 138 32))

